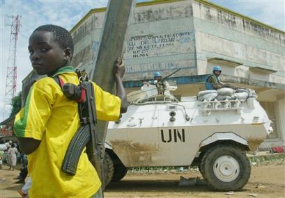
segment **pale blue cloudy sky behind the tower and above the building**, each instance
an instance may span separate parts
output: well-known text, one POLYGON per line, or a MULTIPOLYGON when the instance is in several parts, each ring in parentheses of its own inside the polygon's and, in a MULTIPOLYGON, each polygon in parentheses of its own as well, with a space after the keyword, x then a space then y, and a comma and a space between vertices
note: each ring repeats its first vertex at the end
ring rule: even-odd
MULTIPOLYGON (((22 26, 17 42, 17 92, 22 89, 22 79, 31 72, 27 50, 29 35, 43 24, 56 24, 70 30, 92 8, 107 6, 107 0, 0 0, 0 122, 8 115, 3 115, 6 85, 6 68, 10 44, 10 18, 7 15, 22 15, 22 26)), ((140 0, 144 1, 144 0, 140 0)), ((225 8, 247 15, 260 22, 284 31, 285 0, 210 0, 225 8)))

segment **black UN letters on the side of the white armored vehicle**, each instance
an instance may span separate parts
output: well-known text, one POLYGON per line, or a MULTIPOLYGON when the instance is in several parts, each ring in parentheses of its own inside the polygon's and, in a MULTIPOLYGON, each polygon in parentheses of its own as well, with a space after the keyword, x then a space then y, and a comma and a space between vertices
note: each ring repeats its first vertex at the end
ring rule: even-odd
POLYGON ((161 134, 161 140, 164 143, 169 143, 169 142, 177 142, 180 140, 180 142, 185 142, 185 129, 182 129, 181 132, 178 131, 178 129, 168 129, 168 133, 164 135, 163 129, 160 130, 161 134))

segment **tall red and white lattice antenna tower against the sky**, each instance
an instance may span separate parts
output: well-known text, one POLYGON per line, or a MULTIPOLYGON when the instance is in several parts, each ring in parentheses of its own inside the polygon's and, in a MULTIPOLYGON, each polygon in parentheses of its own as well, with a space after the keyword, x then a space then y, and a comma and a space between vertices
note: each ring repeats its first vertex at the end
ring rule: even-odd
POLYGON ((12 98, 16 94, 17 85, 17 65, 16 65, 16 52, 17 52, 17 39, 21 26, 21 16, 11 16, 11 34, 10 34, 10 47, 8 55, 8 66, 7 66, 7 76, 6 76, 6 89, 5 89, 5 102, 3 109, 3 117, 8 113, 12 98))

